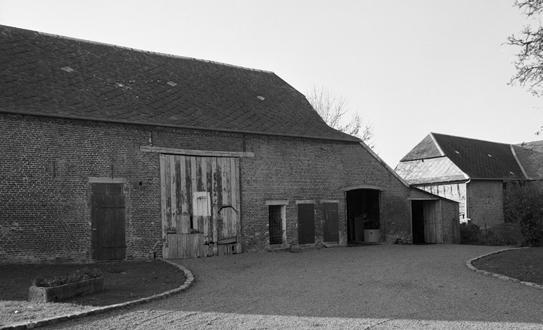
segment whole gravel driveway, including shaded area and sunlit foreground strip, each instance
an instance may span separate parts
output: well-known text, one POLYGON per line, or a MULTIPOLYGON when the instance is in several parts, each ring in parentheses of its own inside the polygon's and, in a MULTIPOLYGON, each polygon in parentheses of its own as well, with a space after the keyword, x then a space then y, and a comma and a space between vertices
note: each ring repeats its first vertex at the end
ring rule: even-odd
POLYGON ((189 290, 45 329, 543 329, 543 290, 465 261, 502 249, 375 245, 178 262, 189 290))

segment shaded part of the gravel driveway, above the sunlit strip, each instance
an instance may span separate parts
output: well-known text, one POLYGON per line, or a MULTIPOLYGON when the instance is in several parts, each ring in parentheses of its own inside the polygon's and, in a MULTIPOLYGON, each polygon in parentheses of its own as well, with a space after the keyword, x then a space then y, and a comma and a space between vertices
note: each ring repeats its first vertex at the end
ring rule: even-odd
POLYGON ((371 245, 179 260, 197 281, 168 310, 302 317, 537 322, 543 290, 481 276, 465 261, 502 249, 371 245))

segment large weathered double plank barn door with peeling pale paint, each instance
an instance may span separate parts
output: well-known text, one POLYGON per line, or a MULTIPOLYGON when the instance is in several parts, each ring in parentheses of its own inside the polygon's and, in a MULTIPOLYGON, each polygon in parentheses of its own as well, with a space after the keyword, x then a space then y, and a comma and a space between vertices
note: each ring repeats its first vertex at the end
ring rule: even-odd
POLYGON ((239 159, 160 155, 163 257, 241 253, 239 159))

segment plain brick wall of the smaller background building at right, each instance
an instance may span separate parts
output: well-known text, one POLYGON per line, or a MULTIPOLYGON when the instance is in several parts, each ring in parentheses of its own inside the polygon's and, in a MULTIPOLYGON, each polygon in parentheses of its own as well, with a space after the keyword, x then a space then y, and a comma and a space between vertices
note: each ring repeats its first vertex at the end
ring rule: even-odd
POLYGON ((467 216, 481 228, 504 222, 503 182, 472 180, 467 184, 467 216))

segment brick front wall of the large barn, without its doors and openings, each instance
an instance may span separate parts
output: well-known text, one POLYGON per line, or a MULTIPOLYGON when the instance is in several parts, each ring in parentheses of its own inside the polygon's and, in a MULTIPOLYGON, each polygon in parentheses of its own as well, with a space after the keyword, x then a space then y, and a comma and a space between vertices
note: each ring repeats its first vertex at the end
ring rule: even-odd
POLYGON ((156 126, 0 114, 0 262, 91 261, 89 177, 124 178, 127 259, 161 256, 158 153, 140 146, 252 151, 240 159, 243 251, 267 248, 266 200, 288 200, 286 235, 298 243, 296 200, 315 200, 315 235, 323 240, 322 201, 342 187, 371 184, 380 193, 384 242, 410 238, 409 188, 358 143, 196 131, 156 126))

